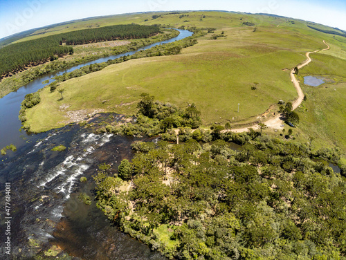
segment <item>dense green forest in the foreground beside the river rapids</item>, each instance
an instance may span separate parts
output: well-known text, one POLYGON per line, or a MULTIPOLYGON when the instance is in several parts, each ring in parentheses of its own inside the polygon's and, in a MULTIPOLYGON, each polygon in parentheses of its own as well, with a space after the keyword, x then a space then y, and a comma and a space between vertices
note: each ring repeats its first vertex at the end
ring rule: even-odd
MULTIPOLYGON (((185 138, 137 141, 131 163, 99 166, 98 207, 124 232, 177 259, 346 259, 346 168, 328 163, 337 150, 215 125, 186 134, 199 127, 195 106, 179 112, 142 97, 141 122, 161 118, 165 132, 181 122, 185 138)), ((122 129, 145 129, 138 124, 122 129)))

